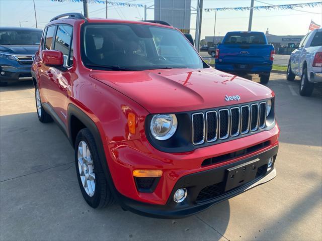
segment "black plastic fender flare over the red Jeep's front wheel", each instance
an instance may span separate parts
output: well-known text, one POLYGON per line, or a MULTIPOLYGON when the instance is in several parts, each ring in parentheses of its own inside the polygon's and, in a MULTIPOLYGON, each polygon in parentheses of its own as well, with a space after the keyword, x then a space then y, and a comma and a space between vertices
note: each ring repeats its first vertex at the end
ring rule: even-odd
POLYGON ((79 121, 81 121, 86 126, 86 128, 88 128, 90 130, 90 132, 92 133, 95 143, 96 143, 96 147, 98 149, 100 162, 103 167, 103 171, 104 171, 107 183, 109 185, 110 191, 111 191, 112 195, 114 196, 115 200, 119 202, 119 198, 118 198, 119 193, 116 190, 116 187, 114 185, 112 175, 111 175, 110 169, 108 167, 107 159, 105 156, 105 151, 104 151, 104 146, 103 146, 103 142, 101 139, 101 135, 100 135, 100 132, 99 132, 96 124, 83 110, 79 109, 74 104, 68 105, 68 109, 67 109, 68 139, 69 139, 69 142, 73 148, 75 148, 75 145, 73 143, 72 133, 71 133, 71 117, 72 116, 75 116, 77 119, 79 119, 79 121))

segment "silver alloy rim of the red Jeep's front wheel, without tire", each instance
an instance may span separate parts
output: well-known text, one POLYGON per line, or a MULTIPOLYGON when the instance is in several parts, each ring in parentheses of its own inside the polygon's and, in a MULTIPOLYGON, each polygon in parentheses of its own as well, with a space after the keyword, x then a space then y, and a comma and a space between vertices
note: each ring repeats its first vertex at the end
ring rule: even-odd
POLYGON ((83 188, 87 195, 92 197, 95 193, 94 163, 90 149, 85 141, 81 141, 78 144, 77 161, 79 176, 81 177, 83 188))

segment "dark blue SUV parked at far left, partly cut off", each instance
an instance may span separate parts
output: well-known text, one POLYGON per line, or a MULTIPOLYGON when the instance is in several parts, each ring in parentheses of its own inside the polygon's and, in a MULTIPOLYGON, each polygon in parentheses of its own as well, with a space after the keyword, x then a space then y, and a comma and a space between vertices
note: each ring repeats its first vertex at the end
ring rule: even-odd
POLYGON ((0 27, 0 85, 31 80, 31 64, 42 30, 0 27))

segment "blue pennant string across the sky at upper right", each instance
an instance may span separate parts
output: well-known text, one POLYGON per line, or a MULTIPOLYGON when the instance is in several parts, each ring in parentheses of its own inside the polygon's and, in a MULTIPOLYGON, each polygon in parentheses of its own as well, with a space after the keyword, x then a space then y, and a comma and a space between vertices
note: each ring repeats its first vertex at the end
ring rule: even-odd
POLYGON ((249 11, 253 10, 289 10, 295 8, 314 8, 319 5, 322 5, 322 2, 315 2, 315 3, 305 3, 305 4, 287 4, 287 5, 271 5, 271 6, 258 6, 258 7, 239 7, 239 8, 218 8, 218 9, 205 9, 205 12, 212 12, 212 11, 249 11))

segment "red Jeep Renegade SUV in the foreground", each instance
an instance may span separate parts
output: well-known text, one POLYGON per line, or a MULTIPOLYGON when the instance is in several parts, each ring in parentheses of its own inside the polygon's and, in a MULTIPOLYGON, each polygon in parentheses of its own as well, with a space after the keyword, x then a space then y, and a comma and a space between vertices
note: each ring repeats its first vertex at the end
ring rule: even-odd
POLYGON ((183 217, 276 175, 272 90, 211 68, 171 26, 57 16, 32 76, 93 208, 183 217))

